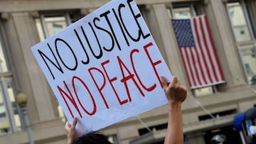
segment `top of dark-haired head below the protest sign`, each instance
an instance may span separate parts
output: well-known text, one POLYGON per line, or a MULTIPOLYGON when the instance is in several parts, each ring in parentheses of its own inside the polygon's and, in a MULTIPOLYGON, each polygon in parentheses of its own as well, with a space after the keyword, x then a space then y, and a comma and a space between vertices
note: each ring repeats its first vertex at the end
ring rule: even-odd
POLYGON ((92 131, 76 138, 73 144, 112 144, 106 135, 92 131))

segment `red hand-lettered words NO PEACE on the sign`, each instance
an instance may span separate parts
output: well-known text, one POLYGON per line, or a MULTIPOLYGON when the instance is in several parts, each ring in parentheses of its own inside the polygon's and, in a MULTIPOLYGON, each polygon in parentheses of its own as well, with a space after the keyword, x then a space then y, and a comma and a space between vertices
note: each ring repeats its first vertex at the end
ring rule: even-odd
MULTIPOLYGON (((141 96, 145 96, 143 91, 152 92, 154 89, 156 89, 157 85, 159 85, 159 87, 161 86, 161 88, 163 87, 161 84, 161 79, 160 79, 159 73, 157 72, 157 69, 156 69, 157 65, 161 64, 162 61, 161 60, 155 60, 155 61, 152 60, 152 57, 149 53, 150 48, 156 48, 156 46, 154 46, 152 43, 148 43, 148 44, 144 45, 144 48, 143 48, 144 51, 141 52, 138 49, 134 48, 129 53, 129 58, 130 58, 129 62, 131 62, 130 64, 132 64, 132 67, 127 67, 127 64, 125 64, 123 62, 123 60, 119 56, 117 56, 119 72, 122 73, 122 79, 117 79, 117 77, 110 77, 110 75, 112 75, 112 74, 110 74, 110 72, 108 72, 107 68, 106 68, 107 65, 110 65, 110 66, 113 65, 110 60, 106 60, 105 62, 102 62, 100 64, 101 70, 100 70, 100 67, 90 67, 87 70, 88 74, 90 74, 90 77, 92 78, 92 81, 95 84, 94 87, 97 88, 97 92, 99 92, 101 99, 105 104, 106 109, 110 109, 110 106, 109 106, 107 100, 105 99, 106 96, 102 93, 103 89, 106 87, 106 83, 110 85, 111 90, 114 92, 114 95, 117 98, 120 106, 132 101, 132 97, 129 92, 129 87, 127 84, 128 81, 129 81, 129 86, 131 86, 131 84, 134 84, 134 87, 137 88, 137 90, 138 90, 139 94, 141 94, 141 96), (136 69, 136 62, 134 62, 134 57, 144 57, 147 59, 151 68, 147 67, 148 69, 146 71, 151 70, 152 73, 154 73, 155 77, 150 77, 150 79, 157 79, 159 84, 154 83, 154 84, 148 84, 150 86, 145 86, 144 82, 146 82, 146 79, 141 79, 141 77, 139 76, 137 69, 136 69), (94 72, 92 72, 92 71, 94 71, 94 72), (101 79, 98 81, 96 81, 96 79, 95 79, 96 78, 94 75, 95 72, 97 72, 97 74, 101 74, 101 76, 102 76, 101 79), (127 75, 125 75, 125 74, 127 74, 127 75), (117 84, 118 82, 122 82, 122 84, 124 84, 125 91, 127 92, 127 99, 124 99, 124 98, 120 99, 117 89, 114 87, 114 84, 117 84)), ((92 95, 90 87, 88 87, 85 80, 83 80, 81 77, 73 76, 73 78, 70 82, 72 84, 73 89, 70 89, 70 87, 68 87, 68 84, 65 81, 63 81, 63 83, 65 85, 66 91, 64 89, 62 89, 60 86, 57 86, 57 88, 58 88, 58 91, 60 92, 60 95, 62 96, 63 100, 65 101, 65 105, 68 107, 68 110, 73 118, 74 118, 73 111, 75 111, 75 109, 79 113, 81 118, 82 118, 82 113, 81 113, 80 109, 82 109, 82 111, 84 111, 88 116, 93 116, 97 112, 97 101, 95 101, 95 95, 94 96, 92 95), (78 85, 82 85, 82 88, 78 87, 78 85), (80 101, 80 96, 78 95, 77 89, 78 90, 85 89, 87 91, 87 96, 90 97, 91 104, 88 104, 88 103, 90 103, 88 101, 80 101), (73 91, 75 93, 75 97, 73 96, 71 91, 73 91), (76 100, 75 100, 75 98, 76 98, 76 100), (69 100, 70 103, 73 104, 73 107, 75 109, 70 109, 70 106, 69 106, 67 100, 69 100), (86 104, 93 107, 93 109, 91 111, 87 110, 85 108, 86 107, 85 102, 86 102, 86 104), (80 108, 78 106, 80 106, 80 108)), ((92 84, 90 84, 90 86, 92 86, 92 84)), ((108 89, 108 90, 110 90, 110 89, 108 89)), ((108 94, 107 96, 110 96, 110 95, 108 94)))

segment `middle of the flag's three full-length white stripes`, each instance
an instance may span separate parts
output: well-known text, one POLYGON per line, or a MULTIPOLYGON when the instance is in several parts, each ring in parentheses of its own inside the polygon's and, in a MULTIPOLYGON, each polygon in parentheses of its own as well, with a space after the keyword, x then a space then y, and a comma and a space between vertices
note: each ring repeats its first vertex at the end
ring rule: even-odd
POLYGON ((210 55, 208 55, 208 53, 207 53, 206 43, 203 42, 203 33, 202 33, 202 28, 200 26, 200 21, 199 21, 198 17, 196 18, 196 24, 197 24, 196 26, 197 26, 198 35, 199 35, 198 43, 201 43, 201 46, 202 46, 202 49, 203 49, 203 55, 204 55, 204 57, 206 59, 206 68, 210 72, 210 75, 208 75, 208 77, 210 77, 213 80, 215 78, 214 78, 213 69, 212 69, 212 66, 211 66, 211 63, 210 63, 210 59, 209 59, 210 55))

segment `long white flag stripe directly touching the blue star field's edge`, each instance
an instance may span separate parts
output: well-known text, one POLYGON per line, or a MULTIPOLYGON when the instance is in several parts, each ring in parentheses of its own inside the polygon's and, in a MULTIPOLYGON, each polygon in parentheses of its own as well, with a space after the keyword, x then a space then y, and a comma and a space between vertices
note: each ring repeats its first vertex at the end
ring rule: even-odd
POLYGON ((203 60, 203 53, 199 47, 199 44, 198 44, 198 40, 197 40, 197 37, 196 37, 196 30, 195 30, 195 25, 193 23, 193 18, 191 19, 191 28, 192 28, 192 33, 193 33, 193 38, 194 38, 194 42, 195 42, 195 45, 196 45, 196 50, 198 52, 198 57, 199 57, 199 60, 200 60, 200 63, 201 63, 201 67, 202 67, 202 74, 205 76, 205 79, 206 79, 206 83, 203 81, 204 84, 209 84, 210 83, 210 79, 208 77, 208 73, 207 73, 207 70, 206 70, 206 65, 204 64, 204 60, 203 60))

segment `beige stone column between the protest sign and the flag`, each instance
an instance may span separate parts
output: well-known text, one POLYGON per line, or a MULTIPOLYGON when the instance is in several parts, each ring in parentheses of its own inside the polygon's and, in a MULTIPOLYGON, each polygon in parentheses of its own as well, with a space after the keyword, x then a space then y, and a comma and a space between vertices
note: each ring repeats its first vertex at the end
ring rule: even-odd
POLYGON ((182 84, 185 87, 189 87, 174 29, 172 28, 171 18, 165 4, 146 6, 146 13, 143 14, 171 74, 178 76, 182 84))

